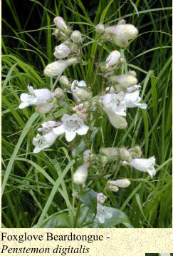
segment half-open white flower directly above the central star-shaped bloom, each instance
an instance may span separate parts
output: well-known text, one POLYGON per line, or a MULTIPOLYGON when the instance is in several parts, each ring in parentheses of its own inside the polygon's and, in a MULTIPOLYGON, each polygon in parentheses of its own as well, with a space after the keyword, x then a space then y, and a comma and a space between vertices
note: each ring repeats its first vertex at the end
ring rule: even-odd
POLYGON ((86 91, 87 86, 85 81, 78 82, 77 80, 74 80, 71 84, 71 91, 73 94, 73 97, 75 98, 75 101, 85 101, 86 98, 90 97, 90 93, 86 91))

